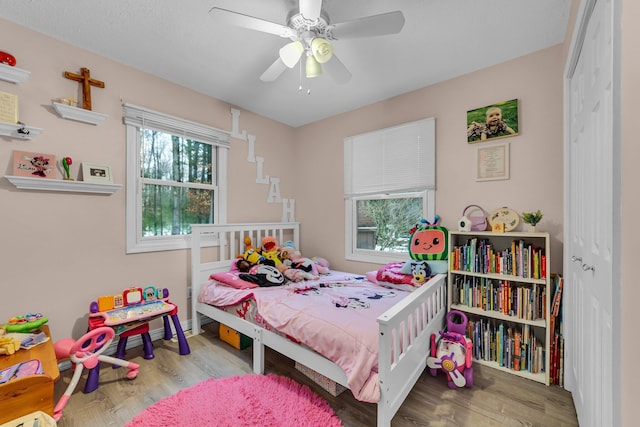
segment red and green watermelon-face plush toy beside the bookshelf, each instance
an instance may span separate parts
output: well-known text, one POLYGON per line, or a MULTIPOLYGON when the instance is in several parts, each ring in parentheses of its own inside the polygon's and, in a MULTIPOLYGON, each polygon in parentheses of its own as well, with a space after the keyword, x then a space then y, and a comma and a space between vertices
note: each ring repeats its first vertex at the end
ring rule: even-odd
POLYGON ((433 222, 421 219, 411 230, 409 255, 415 261, 427 261, 432 274, 446 273, 449 257, 448 230, 438 225, 440 216, 433 222))

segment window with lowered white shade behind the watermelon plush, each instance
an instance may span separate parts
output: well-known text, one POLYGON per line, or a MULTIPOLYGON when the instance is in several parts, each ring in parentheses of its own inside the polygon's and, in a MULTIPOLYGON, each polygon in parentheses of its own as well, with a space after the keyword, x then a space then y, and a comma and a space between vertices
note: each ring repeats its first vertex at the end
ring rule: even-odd
POLYGON ((345 257, 408 259, 409 230, 435 216, 435 119, 344 140, 345 257))

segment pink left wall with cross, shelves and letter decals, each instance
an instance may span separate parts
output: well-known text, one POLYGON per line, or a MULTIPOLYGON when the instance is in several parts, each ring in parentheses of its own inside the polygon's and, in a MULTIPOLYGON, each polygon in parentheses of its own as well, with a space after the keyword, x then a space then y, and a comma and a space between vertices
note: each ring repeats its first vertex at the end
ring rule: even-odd
MULTIPOLYGON (((13 53, 30 79, 0 81, 0 91, 17 94, 21 121, 44 132, 31 141, 0 137, 2 175, 11 175, 14 150, 71 156, 77 176, 82 162, 110 165, 115 183, 125 182, 125 127, 122 103, 148 107, 231 131, 231 106, 131 67, 116 63, 24 27, 0 20, 2 49, 13 53), (81 67, 105 82, 92 90, 93 110, 108 114, 99 126, 64 120, 51 101, 79 85, 63 77, 81 67)), ((265 175, 281 178, 283 197, 293 197, 293 131, 283 124, 242 112, 240 129, 257 135, 256 155, 266 157, 265 175)), ((279 221, 281 205, 266 203, 269 186, 256 184, 256 165, 247 142, 232 139, 229 153, 229 221, 279 221)), ((129 286, 166 287, 187 319, 186 250, 125 253, 125 188, 111 196, 17 190, 0 179, 0 323, 11 316, 42 312, 54 338, 81 335, 89 303, 129 286)), ((158 323, 158 327, 159 327, 158 323)))

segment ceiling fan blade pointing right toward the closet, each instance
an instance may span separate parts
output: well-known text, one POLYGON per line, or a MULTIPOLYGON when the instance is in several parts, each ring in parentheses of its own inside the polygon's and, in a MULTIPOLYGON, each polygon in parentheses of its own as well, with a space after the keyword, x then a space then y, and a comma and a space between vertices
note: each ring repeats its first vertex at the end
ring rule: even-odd
POLYGON ((329 25, 329 31, 335 39, 346 39, 396 34, 402 30, 402 27, 404 27, 404 15, 396 10, 329 25))

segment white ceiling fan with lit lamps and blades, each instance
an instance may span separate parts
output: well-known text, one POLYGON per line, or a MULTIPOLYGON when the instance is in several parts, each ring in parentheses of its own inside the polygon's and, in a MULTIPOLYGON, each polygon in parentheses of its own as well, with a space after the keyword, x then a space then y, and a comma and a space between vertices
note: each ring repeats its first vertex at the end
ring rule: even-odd
POLYGON ((396 34, 404 26, 401 11, 331 24, 329 17, 322 11, 322 0, 300 0, 299 6, 299 11, 294 9, 289 13, 287 25, 219 7, 212 8, 209 15, 221 23, 291 40, 280 49, 278 58, 260 76, 260 80, 265 82, 274 81, 287 68, 293 68, 304 54, 307 78, 321 75, 324 67, 337 83, 346 83, 351 79, 351 72, 334 55, 331 41, 396 34))

